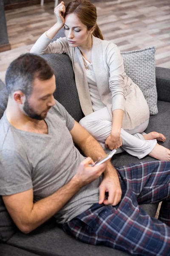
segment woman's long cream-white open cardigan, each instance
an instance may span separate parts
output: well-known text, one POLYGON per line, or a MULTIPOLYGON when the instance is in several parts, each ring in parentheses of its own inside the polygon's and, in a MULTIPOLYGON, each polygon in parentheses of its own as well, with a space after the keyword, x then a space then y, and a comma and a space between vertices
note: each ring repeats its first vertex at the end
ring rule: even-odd
MULTIPOLYGON (((142 91, 126 75, 123 59, 116 44, 92 36, 92 63, 101 101, 112 111, 124 111, 122 128, 133 129, 149 118, 149 108, 142 91)), ((85 116, 93 112, 85 65, 78 47, 69 47, 66 38, 51 43, 45 33, 32 47, 38 55, 67 53, 74 69, 79 101, 85 116)))

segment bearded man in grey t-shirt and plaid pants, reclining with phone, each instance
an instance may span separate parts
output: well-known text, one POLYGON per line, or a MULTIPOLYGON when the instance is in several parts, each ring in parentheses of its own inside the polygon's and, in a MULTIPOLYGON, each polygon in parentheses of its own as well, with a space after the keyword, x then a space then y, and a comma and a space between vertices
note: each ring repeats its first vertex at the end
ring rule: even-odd
POLYGON ((81 241, 137 255, 170 255, 170 162, 117 170, 110 162, 90 166, 105 152, 54 100, 53 70, 39 56, 14 60, 6 87, 0 195, 17 227, 29 233, 54 215, 81 241), (162 200, 159 219, 166 224, 139 207, 162 200))

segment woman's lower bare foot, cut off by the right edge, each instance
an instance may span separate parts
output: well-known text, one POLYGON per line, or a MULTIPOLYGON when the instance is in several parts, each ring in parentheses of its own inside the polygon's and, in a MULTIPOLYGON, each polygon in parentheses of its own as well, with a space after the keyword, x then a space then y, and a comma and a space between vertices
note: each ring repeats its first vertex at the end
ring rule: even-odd
POLYGON ((153 150, 150 152, 149 156, 162 161, 170 161, 170 150, 157 143, 155 148, 153 148, 153 150))

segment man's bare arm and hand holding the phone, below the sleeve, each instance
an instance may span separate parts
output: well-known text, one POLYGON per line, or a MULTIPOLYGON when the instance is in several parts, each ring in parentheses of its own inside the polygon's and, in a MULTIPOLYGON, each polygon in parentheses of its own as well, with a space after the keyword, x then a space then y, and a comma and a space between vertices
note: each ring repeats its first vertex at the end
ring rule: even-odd
POLYGON ((88 166, 90 157, 79 165, 76 175, 54 194, 33 202, 33 189, 14 195, 3 196, 4 204, 14 223, 23 233, 29 233, 57 213, 78 191, 96 180, 104 172, 107 164, 88 166))

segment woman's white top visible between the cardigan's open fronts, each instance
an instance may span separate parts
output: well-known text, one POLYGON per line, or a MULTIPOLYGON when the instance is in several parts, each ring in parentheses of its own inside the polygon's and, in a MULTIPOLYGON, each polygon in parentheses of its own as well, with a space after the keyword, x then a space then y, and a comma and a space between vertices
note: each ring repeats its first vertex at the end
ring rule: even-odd
POLYGON ((93 71, 93 65, 92 63, 87 61, 83 56, 82 58, 85 64, 85 71, 86 71, 86 76, 88 80, 88 87, 90 91, 93 111, 99 110, 101 108, 105 108, 105 105, 102 103, 100 99, 99 91, 97 89, 96 79, 93 71))

